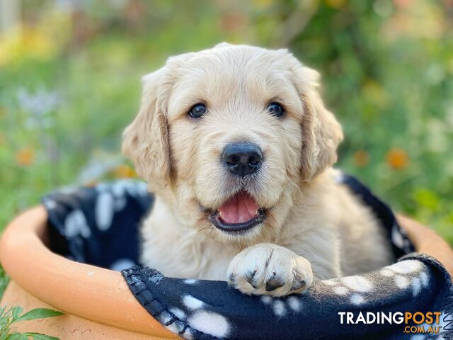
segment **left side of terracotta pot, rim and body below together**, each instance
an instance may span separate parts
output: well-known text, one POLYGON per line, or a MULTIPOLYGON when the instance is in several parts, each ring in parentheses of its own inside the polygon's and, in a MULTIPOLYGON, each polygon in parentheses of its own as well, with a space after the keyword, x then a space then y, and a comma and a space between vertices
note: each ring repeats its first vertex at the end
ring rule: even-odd
POLYGON ((47 212, 39 206, 16 217, 0 239, 0 262, 11 282, 0 305, 47 307, 64 315, 21 322, 64 340, 180 339, 135 300, 116 271, 69 261, 46 244, 47 212))

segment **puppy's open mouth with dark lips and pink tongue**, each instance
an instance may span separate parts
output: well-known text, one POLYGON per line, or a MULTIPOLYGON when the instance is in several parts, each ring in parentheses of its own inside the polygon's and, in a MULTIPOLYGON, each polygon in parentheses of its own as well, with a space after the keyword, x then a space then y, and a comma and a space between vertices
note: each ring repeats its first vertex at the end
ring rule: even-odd
POLYGON ((243 232, 263 222, 265 210, 246 191, 240 191, 208 216, 224 232, 243 232))

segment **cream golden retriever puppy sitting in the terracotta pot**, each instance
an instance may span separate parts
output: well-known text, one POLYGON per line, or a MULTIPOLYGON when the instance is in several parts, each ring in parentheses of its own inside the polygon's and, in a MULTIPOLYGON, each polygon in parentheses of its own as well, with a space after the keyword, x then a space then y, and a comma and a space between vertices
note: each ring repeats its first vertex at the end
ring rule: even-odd
POLYGON ((144 265, 282 296, 391 261, 335 179, 343 133, 319 74, 287 50, 222 43, 169 58, 143 86, 122 151, 156 194, 144 265))

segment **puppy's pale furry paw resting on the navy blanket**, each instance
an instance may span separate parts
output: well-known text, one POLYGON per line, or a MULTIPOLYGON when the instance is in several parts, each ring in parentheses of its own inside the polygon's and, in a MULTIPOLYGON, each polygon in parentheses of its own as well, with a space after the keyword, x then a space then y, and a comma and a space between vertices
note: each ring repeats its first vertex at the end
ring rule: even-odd
POLYGON ((303 293, 313 282, 309 261, 269 243, 251 246, 234 256, 227 274, 230 285, 249 295, 303 293))

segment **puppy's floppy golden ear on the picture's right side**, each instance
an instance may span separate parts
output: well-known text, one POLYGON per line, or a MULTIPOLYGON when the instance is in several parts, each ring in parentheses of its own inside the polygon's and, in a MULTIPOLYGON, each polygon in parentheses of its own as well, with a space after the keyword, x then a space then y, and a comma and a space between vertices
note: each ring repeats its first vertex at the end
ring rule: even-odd
MULTIPOLYGON (((292 57, 292 55, 291 55, 292 57)), ((304 106, 302 116, 302 180, 310 181, 337 161, 343 131, 319 95, 319 73, 294 57, 294 84, 304 106), (294 63, 295 60, 295 63, 294 63)))

